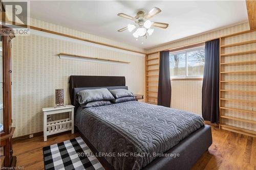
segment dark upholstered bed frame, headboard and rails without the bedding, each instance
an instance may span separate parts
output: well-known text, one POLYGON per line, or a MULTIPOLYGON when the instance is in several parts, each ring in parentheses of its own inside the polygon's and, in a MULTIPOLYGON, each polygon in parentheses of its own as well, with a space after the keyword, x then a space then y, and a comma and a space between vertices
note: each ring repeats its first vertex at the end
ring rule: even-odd
MULTIPOLYGON (((107 77, 107 76, 71 76, 70 77, 70 99, 71 103, 76 105, 75 94, 83 87, 106 87, 125 86, 124 77, 107 77)), ((123 87, 127 88, 127 87, 123 87)), ((88 88, 87 88, 88 89, 88 88)), ((78 128, 75 128, 79 131, 78 128)), ((86 136, 82 135, 83 140, 88 144, 94 154, 99 153, 91 144, 86 136)), ((197 160, 208 150, 212 144, 211 127, 205 125, 194 133, 190 134, 175 147, 166 151, 164 154, 179 154, 176 158, 170 156, 157 157, 150 164, 142 169, 190 169, 197 160)), ((113 169, 113 166, 107 162, 104 157, 97 157, 105 169, 113 169)))

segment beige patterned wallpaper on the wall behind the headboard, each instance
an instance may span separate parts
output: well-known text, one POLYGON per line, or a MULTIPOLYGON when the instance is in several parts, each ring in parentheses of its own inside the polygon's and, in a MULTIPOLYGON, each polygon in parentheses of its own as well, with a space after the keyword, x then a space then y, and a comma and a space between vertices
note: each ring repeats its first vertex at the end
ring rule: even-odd
MULTIPOLYGON (((70 33, 92 40, 118 44, 132 50, 143 49, 120 42, 79 33, 38 20, 34 26, 42 26, 53 31, 70 33)), ((116 52, 104 48, 49 38, 38 35, 17 36, 12 41, 12 116, 16 127, 14 137, 42 131, 42 111, 44 107, 54 106, 54 92, 65 89, 65 104, 69 99, 70 75, 125 76, 126 85, 135 94, 144 94, 145 57, 116 52), (104 59, 131 62, 130 64, 109 64, 88 61, 59 59, 57 54, 69 53, 104 59)))

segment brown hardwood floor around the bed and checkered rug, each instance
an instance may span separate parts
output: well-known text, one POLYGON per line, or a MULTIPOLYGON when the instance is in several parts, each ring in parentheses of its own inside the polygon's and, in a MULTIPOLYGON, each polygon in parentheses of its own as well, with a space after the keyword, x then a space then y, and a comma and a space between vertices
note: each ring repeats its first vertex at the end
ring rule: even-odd
MULTIPOLYGON (((77 136, 79 133, 67 133, 49 137, 46 142, 42 136, 14 141, 16 165, 24 166, 25 169, 44 169, 42 147, 77 136)), ((203 154, 192 169, 256 169, 256 138, 213 126, 212 138, 213 143, 208 152, 203 154)))

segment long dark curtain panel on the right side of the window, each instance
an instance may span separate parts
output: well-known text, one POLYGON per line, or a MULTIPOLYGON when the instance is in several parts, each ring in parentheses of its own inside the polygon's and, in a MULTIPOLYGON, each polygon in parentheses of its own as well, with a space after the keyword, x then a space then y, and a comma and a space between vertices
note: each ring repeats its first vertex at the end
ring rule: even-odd
POLYGON ((211 123, 219 123, 219 46, 219 39, 205 42, 202 115, 211 123))

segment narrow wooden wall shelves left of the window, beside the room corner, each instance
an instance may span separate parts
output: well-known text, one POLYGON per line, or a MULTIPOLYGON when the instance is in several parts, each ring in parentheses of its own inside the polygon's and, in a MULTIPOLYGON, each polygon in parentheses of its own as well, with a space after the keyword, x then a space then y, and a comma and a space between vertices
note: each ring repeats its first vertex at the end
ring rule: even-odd
POLYGON ((145 75, 146 75, 146 95, 145 102, 157 105, 158 75, 159 75, 159 55, 154 53, 146 55, 145 75))

